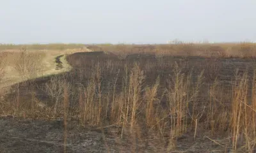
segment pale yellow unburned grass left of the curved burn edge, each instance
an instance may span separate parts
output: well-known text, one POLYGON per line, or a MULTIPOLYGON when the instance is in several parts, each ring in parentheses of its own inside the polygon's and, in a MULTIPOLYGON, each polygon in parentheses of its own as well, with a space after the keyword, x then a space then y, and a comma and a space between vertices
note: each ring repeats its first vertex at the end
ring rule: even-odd
MULTIPOLYGON (((32 45, 33 46, 33 45, 32 45)), ((90 52, 87 48, 76 48, 75 46, 62 45, 64 48, 47 47, 47 45, 37 45, 41 49, 31 47, 31 45, 10 45, 10 48, 4 48, 1 52, 1 68, 3 68, 4 76, 1 77, 3 82, 0 87, 8 87, 24 80, 32 78, 45 77, 58 73, 70 71, 70 65, 65 60, 66 55, 75 52, 90 52), (48 50, 52 48, 52 50, 48 50), (56 57, 61 57, 62 69, 56 69, 56 57)), ((3 74, 3 73, 1 73, 3 74)))

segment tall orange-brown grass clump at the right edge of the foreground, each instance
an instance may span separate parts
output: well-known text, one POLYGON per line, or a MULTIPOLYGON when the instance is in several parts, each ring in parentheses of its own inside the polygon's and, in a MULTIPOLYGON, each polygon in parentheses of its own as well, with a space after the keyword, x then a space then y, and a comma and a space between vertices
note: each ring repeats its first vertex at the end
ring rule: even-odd
MULTIPOLYGON (((248 74, 237 75, 233 87, 231 131, 232 148, 237 150, 237 145, 243 143, 247 152, 255 151, 255 75, 253 77, 252 98, 248 98, 248 74)), ((241 144, 240 144, 241 145, 241 144)))

